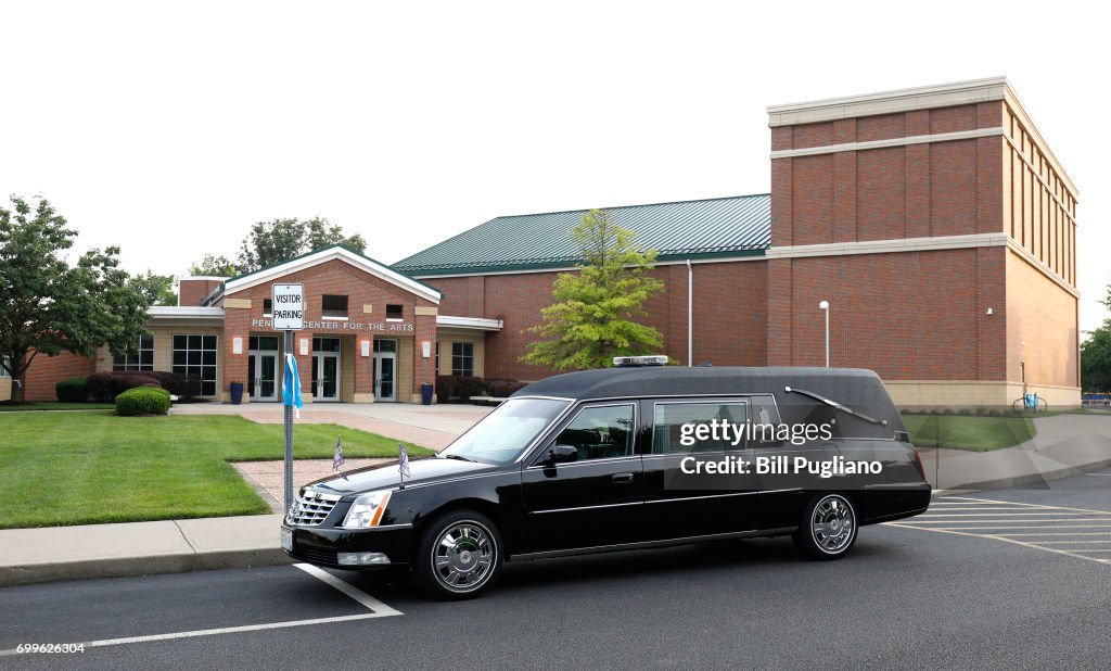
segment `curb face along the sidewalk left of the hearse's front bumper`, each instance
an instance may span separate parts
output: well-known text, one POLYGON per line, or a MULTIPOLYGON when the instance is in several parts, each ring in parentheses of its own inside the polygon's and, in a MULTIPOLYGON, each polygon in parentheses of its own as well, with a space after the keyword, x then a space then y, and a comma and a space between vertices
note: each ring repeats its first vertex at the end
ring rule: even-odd
POLYGON ((252 569, 291 564, 293 560, 280 548, 182 552, 149 557, 120 557, 88 561, 0 567, 0 588, 92 580, 98 578, 131 578, 161 573, 192 573, 218 569, 252 569))

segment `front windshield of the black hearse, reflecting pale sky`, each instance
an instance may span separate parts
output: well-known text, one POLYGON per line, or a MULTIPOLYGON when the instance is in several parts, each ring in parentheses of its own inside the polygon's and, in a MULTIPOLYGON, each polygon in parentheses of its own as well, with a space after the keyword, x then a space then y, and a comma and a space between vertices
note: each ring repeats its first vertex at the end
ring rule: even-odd
POLYGON ((509 399, 460 435, 439 457, 509 463, 568 407, 554 399, 509 399))

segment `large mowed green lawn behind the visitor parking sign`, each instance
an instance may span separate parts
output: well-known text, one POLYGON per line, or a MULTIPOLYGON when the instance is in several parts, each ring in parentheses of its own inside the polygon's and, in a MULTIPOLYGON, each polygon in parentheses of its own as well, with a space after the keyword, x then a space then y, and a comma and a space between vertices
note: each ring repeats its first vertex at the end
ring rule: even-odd
MULTIPOLYGON (((337 435, 349 458, 398 454, 393 439, 296 424, 294 457, 331 458, 337 435)), ((282 437, 239 417, 0 414, 0 529, 268 513, 228 461, 281 459, 282 437)))

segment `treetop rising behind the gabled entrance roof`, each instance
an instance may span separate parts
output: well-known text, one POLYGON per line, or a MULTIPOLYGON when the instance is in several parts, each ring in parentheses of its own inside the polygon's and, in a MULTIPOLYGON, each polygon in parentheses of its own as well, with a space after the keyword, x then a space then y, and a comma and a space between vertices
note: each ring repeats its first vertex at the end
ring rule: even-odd
POLYGON ((320 217, 308 221, 297 218, 260 221, 251 227, 239 248, 239 270, 252 272, 332 244, 359 253, 367 249, 362 236, 347 236, 341 227, 320 217))

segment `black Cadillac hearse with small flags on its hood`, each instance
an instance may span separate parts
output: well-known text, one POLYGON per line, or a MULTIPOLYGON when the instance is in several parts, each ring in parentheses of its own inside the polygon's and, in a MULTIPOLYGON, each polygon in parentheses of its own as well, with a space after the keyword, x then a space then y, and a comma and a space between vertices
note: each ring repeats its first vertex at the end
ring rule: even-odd
POLYGON ((859 527, 929 505, 871 371, 615 362, 521 389, 412 460, 403 487, 397 462, 303 487, 282 547, 329 568, 410 565, 458 599, 503 561, 564 554, 790 534, 837 559, 859 527))

